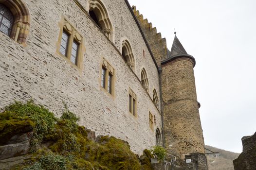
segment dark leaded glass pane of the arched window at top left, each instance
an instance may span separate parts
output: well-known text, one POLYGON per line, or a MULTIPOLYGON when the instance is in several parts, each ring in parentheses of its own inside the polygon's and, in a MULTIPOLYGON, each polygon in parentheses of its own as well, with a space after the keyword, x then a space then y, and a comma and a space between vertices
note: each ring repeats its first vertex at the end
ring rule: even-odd
POLYGON ((4 5, 0 4, 0 32, 10 36, 13 20, 12 12, 4 5))

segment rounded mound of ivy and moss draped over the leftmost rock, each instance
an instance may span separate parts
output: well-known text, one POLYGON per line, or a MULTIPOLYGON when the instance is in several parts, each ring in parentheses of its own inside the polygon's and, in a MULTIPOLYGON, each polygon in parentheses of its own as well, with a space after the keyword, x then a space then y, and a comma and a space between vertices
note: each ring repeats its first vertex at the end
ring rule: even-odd
MULTIPOLYGON (((10 136, 33 130, 34 138, 31 144, 35 146, 32 150, 36 150, 43 137, 53 131, 55 121, 56 118, 52 112, 34 104, 33 101, 15 102, 5 107, 4 112, 0 113, 0 138, 8 139, 10 136)), ((1 140, 0 144, 5 142, 1 140)))

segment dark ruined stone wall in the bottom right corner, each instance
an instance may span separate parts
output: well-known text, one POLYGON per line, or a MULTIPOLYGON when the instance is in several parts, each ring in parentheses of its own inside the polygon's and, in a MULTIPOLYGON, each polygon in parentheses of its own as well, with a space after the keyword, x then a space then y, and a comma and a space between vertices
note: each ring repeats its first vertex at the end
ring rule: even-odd
POLYGON ((242 138, 243 152, 233 161, 235 170, 256 169, 256 133, 242 138))

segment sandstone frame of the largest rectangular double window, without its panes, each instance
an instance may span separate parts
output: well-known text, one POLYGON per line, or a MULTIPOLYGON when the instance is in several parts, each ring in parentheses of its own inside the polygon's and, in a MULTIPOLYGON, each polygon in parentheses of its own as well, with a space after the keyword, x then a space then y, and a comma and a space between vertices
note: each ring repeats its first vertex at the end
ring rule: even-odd
POLYGON ((69 64, 71 64, 75 68, 81 69, 83 67, 83 55, 85 52, 84 37, 82 36, 82 34, 80 34, 77 31, 77 29, 73 26, 73 24, 71 24, 71 22, 66 17, 64 17, 64 15, 61 16, 61 20, 59 22, 59 28, 60 28, 59 37, 56 43, 56 46, 57 46, 56 53, 62 56, 62 58, 64 58, 69 64), (60 52, 61 39, 62 39, 63 32, 69 34, 66 55, 63 55, 60 52), (75 64, 71 61, 73 42, 78 43, 77 59, 75 64))

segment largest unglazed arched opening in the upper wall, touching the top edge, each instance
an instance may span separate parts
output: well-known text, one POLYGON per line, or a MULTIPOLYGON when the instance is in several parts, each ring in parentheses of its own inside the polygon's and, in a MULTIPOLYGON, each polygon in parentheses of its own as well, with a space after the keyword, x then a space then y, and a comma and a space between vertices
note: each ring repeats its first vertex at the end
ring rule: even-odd
POLYGON ((112 25, 106 8, 100 0, 90 0, 89 14, 103 33, 112 40, 112 25))

